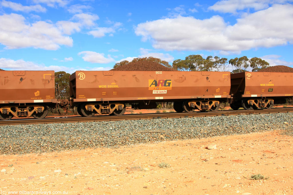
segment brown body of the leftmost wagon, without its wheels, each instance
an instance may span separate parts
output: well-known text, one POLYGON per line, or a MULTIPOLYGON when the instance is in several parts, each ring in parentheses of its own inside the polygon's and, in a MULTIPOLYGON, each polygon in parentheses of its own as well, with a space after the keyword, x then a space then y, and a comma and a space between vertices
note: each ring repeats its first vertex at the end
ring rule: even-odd
POLYGON ((1 103, 52 102, 54 71, 0 71, 1 103))

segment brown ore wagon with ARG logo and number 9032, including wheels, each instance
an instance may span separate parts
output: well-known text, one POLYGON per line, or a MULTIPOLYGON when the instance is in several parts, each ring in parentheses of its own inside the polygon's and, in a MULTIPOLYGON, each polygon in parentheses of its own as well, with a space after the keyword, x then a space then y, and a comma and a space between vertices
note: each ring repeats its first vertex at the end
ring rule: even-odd
POLYGON ((76 71, 70 76, 71 106, 84 116, 121 115, 125 103, 154 108, 174 102, 178 112, 216 111, 229 91, 229 72, 76 71))

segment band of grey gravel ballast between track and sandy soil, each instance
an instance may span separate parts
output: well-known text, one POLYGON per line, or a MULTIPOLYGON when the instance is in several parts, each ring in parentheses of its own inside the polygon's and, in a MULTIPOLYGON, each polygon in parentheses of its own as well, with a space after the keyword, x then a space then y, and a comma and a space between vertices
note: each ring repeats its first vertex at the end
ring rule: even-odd
POLYGON ((0 126, 0 153, 23 154, 115 147, 164 140, 282 130, 293 135, 293 113, 0 126))

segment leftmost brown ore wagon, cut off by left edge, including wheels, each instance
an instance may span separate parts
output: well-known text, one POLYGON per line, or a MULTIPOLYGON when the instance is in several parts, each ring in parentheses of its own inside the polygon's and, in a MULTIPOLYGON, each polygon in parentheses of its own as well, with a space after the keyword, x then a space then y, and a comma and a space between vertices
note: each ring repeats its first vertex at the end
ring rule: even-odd
POLYGON ((1 120, 44 118, 47 106, 57 102, 54 71, 0 71, 0 94, 1 120))

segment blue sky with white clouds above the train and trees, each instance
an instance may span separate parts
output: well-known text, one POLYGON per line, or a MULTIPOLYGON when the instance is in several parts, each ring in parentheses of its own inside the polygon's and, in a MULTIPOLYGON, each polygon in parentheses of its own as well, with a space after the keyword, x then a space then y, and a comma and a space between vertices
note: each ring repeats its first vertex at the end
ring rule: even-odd
POLYGON ((0 24, 4 70, 109 70, 192 54, 293 67, 293 0, 0 0, 0 24))

